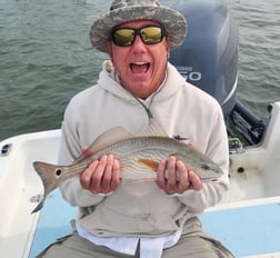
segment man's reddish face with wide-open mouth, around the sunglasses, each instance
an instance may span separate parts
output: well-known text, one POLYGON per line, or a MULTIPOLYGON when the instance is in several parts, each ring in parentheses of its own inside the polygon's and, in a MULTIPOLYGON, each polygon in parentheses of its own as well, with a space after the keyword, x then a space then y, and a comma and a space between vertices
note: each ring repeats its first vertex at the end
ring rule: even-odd
MULTIPOLYGON (((129 21, 119 28, 143 28, 160 24, 156 21, 140 20, 129 21)), ((133 96, 146 99, 154 92, 166 76, 166 68, 170 44, 164 37, 161 42, 146 44, 140 36, 137 36, 133 44, 119 47, 112 41, 107 43, 107 51, 120 77, 121 85, 133 96)))

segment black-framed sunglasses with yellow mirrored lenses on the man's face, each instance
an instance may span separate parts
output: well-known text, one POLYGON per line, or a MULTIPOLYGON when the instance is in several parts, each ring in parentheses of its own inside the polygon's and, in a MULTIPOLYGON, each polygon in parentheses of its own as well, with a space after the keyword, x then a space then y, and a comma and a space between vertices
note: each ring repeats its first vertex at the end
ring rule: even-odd
POLYGON ((112 40, 117 46, 128 47, 134 42, 136 36, 139 34, 146 44, 159 43, 164 33, 159 27, 146 27, 141 29, 117 29, 112 33, 112 40))

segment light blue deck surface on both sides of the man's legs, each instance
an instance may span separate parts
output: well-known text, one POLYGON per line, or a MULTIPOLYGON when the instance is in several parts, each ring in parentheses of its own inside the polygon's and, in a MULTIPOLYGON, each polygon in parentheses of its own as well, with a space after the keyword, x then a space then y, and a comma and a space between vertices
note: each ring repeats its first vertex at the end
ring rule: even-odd
MULTIPOLYGON (((58 190, 51 194, 38 220, 29 257, 36 257, 47 245, 70 234, 69 221, 76 214, 77 209, 69 207, 58 190)), ((220 206, 206 212, 201 221, 236 257, 280 256, 280 197, 220 206)))

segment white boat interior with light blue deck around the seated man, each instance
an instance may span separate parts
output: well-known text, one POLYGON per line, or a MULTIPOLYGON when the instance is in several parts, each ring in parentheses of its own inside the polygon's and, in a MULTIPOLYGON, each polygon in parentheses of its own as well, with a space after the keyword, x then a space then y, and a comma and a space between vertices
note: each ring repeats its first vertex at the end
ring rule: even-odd
MULTIPOLYGON (((273 117, 277 119, 270 122, 259 148, 231 155, 231 201, 209 209, 201 218, 204 229, 237 257, 280 257, 279 102, 273 117)), ((32 162, 56 162, 59 137, 60 131, 53 130, 0 142, 0 150, 12 143, 8 155, 0 155, 0 254, 9 254, 9 258, 33 258, 71 231, 69 221, 76 209, 58 190, 47 198, 40 212, 30 214, 37 206, 30 198, 43 191, 32 162)))

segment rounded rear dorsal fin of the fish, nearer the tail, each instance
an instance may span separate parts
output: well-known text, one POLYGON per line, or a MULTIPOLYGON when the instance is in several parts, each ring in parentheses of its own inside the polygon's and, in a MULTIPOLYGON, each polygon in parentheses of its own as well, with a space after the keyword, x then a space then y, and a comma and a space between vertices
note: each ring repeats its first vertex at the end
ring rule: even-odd
POLYGON ((97 152, 110 145, 132 137, 133 135, 127 131, 123 127, 113 127, 98 136, 97 139, 89 146, 89 149, 97 152))

